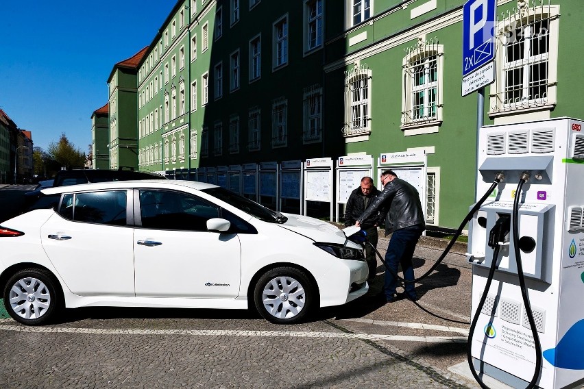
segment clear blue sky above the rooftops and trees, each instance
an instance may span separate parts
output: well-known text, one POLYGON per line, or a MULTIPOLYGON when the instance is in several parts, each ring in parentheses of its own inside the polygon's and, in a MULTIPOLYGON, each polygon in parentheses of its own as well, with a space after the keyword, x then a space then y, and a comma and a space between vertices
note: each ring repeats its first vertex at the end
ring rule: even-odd
POLYGON ((3 1, 0 108, 35 147, 62 133, 84 153, 114 64, 149 45, 176 0, 3 1))

